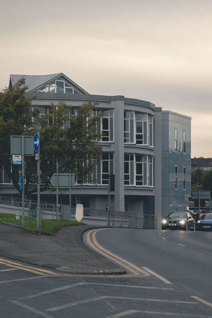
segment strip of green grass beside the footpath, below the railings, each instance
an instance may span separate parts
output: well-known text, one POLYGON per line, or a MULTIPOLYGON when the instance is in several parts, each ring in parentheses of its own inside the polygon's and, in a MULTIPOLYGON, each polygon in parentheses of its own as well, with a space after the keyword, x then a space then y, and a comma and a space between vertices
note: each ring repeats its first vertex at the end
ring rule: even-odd
MULTIPOLYGON (((0 213, 0 221, 16 224, 22 226, 22 217, 20 216, 20 220, 16 220, 16 216, 14 214, 9 213, 0 213)), ((33 217, 25 217, 24 219, 24 227, 29 229, 30 231, 37 231, 37 220, 33 217)), ((63 221, 63 220, 42 220, 41 224, 41 232, 42 233, 51 233, 55 229, 64 226, 79 226, 84 225, 82 222, 78 221, 63 221)))

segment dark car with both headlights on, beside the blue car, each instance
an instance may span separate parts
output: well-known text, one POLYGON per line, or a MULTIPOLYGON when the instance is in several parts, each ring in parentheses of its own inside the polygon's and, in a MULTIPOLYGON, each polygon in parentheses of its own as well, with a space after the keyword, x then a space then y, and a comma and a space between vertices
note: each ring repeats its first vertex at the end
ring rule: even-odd
POLYGON ((162 229, 195 230, 195 221, 188 212, 173 212, 162 220, 162 229))

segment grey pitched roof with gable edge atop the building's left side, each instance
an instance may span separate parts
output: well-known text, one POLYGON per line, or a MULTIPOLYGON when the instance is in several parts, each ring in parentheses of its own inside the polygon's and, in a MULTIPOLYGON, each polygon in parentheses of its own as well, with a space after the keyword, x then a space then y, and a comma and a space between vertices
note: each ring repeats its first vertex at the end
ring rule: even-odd
POLYGON ((46 75, 17 75, 11 74, 10 75, 10 85, 14 85, 22 77, 25 78, 25 84, 28 86, 28 90, 26 92, 33 92, 36 91, 37 88, 47 84, 48 82, 55 80, 59 77, 63 76, 68 82, 70 82, 74 87, 78 88, 81 93, 88 94, 82 87, 72 81, 69 77, 67 77, 63 73, 55 73, 55 74, 46 74, 46 75))

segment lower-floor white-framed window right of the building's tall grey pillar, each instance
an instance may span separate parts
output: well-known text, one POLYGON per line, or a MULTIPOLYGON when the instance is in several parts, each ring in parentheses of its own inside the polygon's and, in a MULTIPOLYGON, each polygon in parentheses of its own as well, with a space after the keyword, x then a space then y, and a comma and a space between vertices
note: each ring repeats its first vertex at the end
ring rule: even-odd
POLYGON ((153 186, 153 156, 125 153, 124 184, 153 186))

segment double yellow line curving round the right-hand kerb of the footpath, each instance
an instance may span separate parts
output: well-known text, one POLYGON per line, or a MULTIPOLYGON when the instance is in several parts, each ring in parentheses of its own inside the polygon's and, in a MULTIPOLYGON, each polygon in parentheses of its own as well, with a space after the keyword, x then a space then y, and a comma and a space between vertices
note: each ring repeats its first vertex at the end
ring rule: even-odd
MULTIPOLYGON (((92 249, 94 249, 96 252, 100 253, 104 257, 109 258, 110 260, 114 261, 117 263, 120 267, 124 268, 127 272, 131 273, 131 275, 124 275, 125 277, 127 276, 150 276, 149 273, 144 271, 143 269, 137 267, 133 263, 129 262, 128 260, 108 251, 104 247, 102 247, 96 240, 96 234, 99 231, 104 231, 104 230, 109 230, 109 229, 97 229, 97 230, 90 230, 87 232, 86 235, 86 240, 87 243, 90 245, 92 249)), ((112 229, 110 229, 112 230, 112 229)), ((121 275, 119 275, 120 277, 121 275)))

